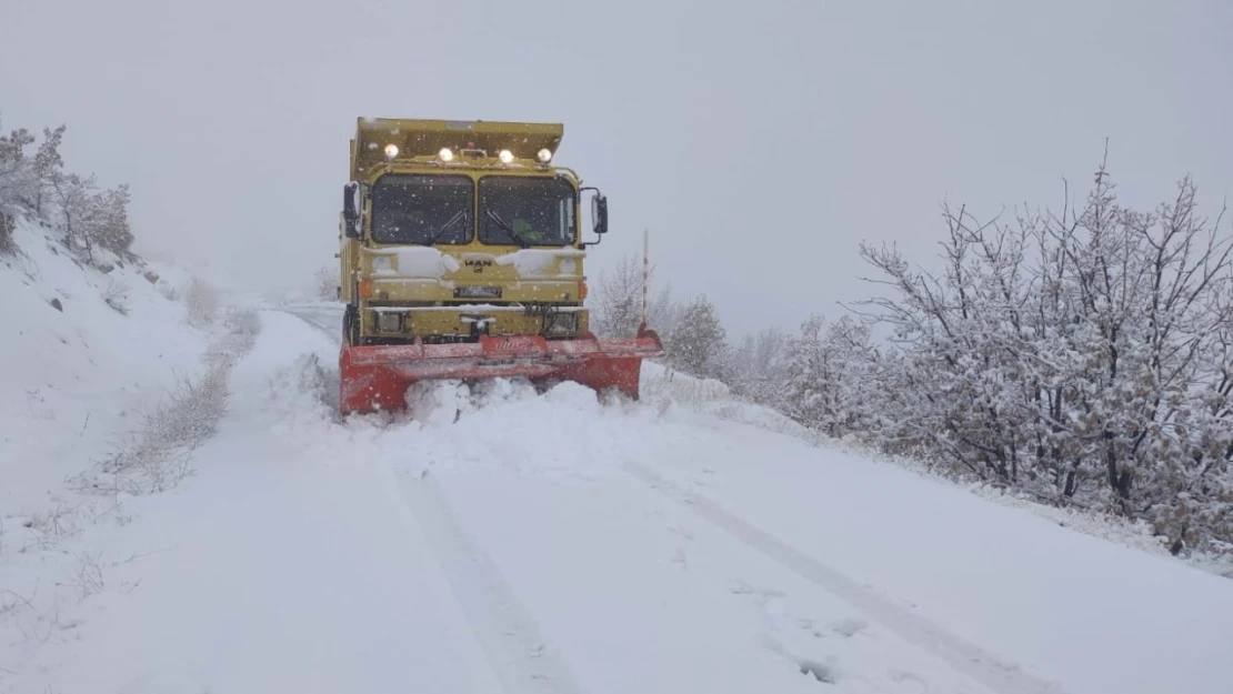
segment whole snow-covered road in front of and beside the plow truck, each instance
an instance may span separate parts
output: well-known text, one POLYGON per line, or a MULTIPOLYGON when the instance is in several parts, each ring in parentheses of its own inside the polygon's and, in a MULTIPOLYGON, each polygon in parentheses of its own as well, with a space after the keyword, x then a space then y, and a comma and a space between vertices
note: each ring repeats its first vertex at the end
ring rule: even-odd
POLYGON ((339 422, 337 311, 263 322, 195 480, 111 531, 133 589, 12 692, 1233 692, 1227 579, 568 383, 339 422))

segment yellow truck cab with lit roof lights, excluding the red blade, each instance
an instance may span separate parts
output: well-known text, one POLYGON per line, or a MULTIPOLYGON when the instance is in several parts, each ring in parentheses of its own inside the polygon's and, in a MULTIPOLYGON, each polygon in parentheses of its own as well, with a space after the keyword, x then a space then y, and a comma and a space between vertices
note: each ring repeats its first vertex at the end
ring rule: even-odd
POLYGON ((339 234, 351 344, 587 332, 581 184, 551 163, 562 131, 358 121, 339 234))

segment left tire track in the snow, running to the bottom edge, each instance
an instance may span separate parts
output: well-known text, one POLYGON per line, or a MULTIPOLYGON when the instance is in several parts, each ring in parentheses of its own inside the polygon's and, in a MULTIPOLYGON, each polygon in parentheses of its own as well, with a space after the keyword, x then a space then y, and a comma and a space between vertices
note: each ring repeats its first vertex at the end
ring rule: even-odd
POLYGON ((581 694, 568 663, 540 634, 488 555, 462 529, 436 481, 427 473, 418 478, 395 475, 506 692, 581 694))

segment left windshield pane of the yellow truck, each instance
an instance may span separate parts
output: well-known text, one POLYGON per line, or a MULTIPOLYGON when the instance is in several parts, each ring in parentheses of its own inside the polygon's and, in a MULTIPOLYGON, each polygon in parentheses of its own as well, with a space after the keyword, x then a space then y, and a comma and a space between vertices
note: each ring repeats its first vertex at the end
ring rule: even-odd
POLYGON ((467 176, 387 174, 372 184, 372 240, 462 244, 471 240, 473 186, 467 176))

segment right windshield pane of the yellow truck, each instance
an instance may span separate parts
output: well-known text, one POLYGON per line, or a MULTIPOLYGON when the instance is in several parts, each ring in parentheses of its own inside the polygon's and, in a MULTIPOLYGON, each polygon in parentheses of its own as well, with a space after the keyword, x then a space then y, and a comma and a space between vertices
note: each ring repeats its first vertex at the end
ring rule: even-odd
POLYGON ((480 179, 480 243, 571 245, 577 237, 573 186, 562 179, 480 179))

